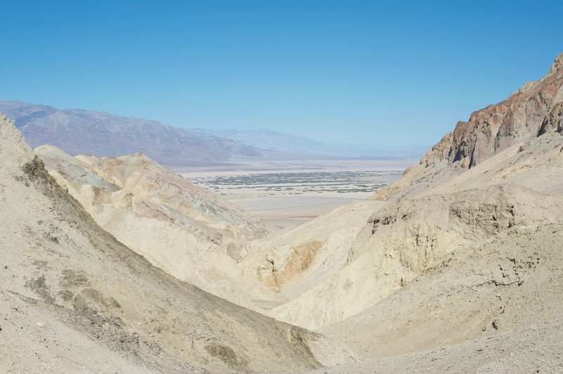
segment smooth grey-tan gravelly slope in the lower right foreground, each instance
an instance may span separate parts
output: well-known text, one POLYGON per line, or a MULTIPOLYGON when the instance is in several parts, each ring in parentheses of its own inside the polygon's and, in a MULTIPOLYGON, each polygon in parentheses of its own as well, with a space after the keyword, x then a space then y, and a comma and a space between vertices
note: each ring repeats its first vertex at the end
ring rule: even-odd
POLYGON ((557 373, 563 369, 563 226, 511 228, 366 311, 322 330, 357 363, 320 373, 557 373))

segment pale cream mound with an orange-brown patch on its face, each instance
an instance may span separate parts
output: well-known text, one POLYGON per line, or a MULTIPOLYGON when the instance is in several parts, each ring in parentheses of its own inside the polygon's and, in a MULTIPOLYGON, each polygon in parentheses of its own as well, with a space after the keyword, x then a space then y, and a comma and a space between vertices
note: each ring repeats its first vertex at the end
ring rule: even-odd
POLYGON ((292 299, 338 271, 348 250, 374 209, 384 202, 360 201, 254 240, 242 253, 241 277, 260 282, 292 299))

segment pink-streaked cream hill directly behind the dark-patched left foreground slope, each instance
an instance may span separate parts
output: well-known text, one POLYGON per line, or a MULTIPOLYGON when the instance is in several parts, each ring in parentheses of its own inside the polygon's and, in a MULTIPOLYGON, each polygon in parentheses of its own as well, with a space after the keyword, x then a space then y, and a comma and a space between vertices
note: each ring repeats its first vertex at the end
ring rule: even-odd
POLYGON ((236 278, 229 252, 267 231, 256 219, 141 154, 72 157, 36 149, 49 173, 121 243, 180 280, 252 307, 279 299, 236 278))

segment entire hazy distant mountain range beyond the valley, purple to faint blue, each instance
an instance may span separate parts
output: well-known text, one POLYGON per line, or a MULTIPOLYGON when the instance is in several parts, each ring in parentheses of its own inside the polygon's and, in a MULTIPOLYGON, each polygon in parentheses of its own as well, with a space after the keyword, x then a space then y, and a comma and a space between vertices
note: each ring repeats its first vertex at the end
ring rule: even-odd
POLYGON ((33 147, 51 144, 72 155, 116 156, 141 152, 165 164, 303 157, 417 159, 428 148, 323 143, 265 129, 184 129, 142 118, 94 110, 61 110, 22 101, 0 100, 0 112, 15 122, 33 147))

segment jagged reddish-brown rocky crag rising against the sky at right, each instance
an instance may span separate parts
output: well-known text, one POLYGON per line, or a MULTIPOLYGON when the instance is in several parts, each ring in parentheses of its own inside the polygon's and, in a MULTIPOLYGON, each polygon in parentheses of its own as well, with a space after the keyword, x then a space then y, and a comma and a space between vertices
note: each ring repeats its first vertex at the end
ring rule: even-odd
MULTIPOLYGON (((536 155, 550 152, 549 143, 559 143, 560 139, 545 137, 550 137, 552 132, 562 132, 562 64, 563 54, 557 56, 548 75, 542 79, 524 84, 505 101, 473 112, 469 121, 458 122, 454 131, 436 143, 419 164, 407 169, 400 179, 381 188, 371 199, 412 198, 433 191, 446 191, 445 186, 449 186, 449 191, 460 191, 462 186, 467 186, 469 176, 478 174, 468 171, 476 168, 481 169, 481 173, 493 171, 493 164, 500 165, 508 157, 516 157, 518 150, 529 148, 531 144, 535 144, 532 148, 536 155), (479 167, 483 164, 487 166, 479 167)), ((526 155, 530 160, 535 157, 526 155)), ((520 159, 524 162, 522 157, 520 159)), ((529 161, 521 167, 531 167, 529 161)), ((513 171, 520 174, 523 170, 513 171)), ((546 174, 542 175, 540 178, 545 179, 546 174)), ((493 183, 491 174, 479 177, 493 183)), ((510 178, 510 175, 505 174, 504 178, 510 178)), ((531 179, 518 181, 530 184, 531 179)))

